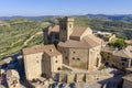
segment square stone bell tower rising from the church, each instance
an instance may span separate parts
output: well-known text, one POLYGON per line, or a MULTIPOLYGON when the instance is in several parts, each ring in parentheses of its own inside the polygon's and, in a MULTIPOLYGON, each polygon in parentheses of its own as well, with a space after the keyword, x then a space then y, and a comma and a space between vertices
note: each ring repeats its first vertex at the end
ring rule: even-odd
POLYGON ((69 35, 74 31, 74 19, 65 16, 59 19, 59 41, 69 40, 69 35))

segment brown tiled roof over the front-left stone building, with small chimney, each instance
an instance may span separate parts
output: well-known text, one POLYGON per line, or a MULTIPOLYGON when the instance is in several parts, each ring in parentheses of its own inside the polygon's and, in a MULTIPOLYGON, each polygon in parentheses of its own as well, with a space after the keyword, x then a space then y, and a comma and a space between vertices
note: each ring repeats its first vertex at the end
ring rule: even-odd
POLYGON ((50 56, 61 55, 61 53, 56 50, 56 47, 52 45, 36 45, 33 47, 28 47, 22 50, 23 55, 36 54, 36 53, 45 53, 50 56))

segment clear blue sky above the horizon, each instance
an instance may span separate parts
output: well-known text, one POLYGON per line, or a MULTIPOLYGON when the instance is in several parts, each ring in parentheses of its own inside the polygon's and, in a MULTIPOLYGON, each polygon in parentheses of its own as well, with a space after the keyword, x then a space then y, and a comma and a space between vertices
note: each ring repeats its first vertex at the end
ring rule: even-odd
POLYGON ((2 15, 132 14, 132 0, 0 0, 2 15))

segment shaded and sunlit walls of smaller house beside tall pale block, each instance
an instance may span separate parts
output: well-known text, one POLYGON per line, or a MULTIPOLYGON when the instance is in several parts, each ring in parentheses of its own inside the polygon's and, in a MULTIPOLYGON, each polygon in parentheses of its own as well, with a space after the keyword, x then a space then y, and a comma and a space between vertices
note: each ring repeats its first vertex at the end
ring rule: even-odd
POLYGON ((52 73, 57 73, 62 69, 63 57, 62 55, 51 57, 44 54, 43 62, 44 64, 42 66, 42 73, 48 78, 52 77, 52 73))

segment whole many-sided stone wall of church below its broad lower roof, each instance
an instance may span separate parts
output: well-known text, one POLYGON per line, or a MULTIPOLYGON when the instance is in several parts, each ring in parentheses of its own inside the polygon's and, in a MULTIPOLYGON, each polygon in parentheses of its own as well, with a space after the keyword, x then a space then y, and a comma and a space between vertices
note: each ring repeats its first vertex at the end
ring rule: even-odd
POLYGON ((81 69, 95 70, 100 66, 101 46, 94 48, 67 48, 58 46, 59 52, 63 54, 63 63, 81 69))

